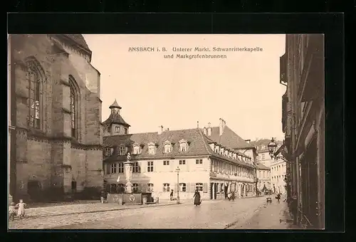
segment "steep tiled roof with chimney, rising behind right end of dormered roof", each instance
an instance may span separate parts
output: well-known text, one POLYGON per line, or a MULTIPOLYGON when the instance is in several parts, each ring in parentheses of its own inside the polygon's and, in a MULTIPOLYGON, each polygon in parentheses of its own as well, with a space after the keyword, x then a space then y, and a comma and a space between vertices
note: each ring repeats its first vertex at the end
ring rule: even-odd
POLYGON ((209 138, 210 140, 231 149, 253 147, 253 145, 248 144, 248 142, 239 137, 239 135, 236 135, 236 133, 227 126, 224 127, 222 135, 219 134, 219 127, 211 127, 211 136, 209 138))

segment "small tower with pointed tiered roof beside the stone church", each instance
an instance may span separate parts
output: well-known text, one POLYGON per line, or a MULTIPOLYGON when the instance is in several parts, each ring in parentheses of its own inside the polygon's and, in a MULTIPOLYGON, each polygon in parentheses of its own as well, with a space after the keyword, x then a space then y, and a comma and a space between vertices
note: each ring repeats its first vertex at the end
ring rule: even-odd
POLYGON ((111 110, 110 116, 108 117, 108 120, 103 122, 104 136, 127 135, 129 133, 130 125, 121 117, 121 107, 117 104, 116 99, 109 108, 111 110))

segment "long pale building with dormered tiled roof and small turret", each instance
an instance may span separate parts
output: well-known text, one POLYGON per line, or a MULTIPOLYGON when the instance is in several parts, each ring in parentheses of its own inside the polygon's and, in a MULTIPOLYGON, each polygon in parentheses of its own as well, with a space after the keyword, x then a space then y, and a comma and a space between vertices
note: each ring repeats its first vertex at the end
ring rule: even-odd
POLYGON ((249 145, 224 120, 219 127, 164 130, 160 126, 158 132, 130 134, 116 101, 110 109, 110 117, 103 122, 103 169, 109 192, 124 189, 123 162, 130 152, 135 192, 155 191, 162 199, 168 199, 171 190, 177 196, 178 189, 180 199, 192 199, 196 189, 203 199, 224 198, 229 191, 240 196, 253 194, 253 157, 238 150, 249 145))

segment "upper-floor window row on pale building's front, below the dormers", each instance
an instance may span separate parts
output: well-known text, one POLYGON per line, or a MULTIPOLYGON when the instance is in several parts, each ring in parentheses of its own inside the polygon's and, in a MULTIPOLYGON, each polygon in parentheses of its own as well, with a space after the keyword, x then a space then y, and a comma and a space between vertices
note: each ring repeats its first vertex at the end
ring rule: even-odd
MULTIPOLYGON (((185 159, 179 160, 179 165, 186 164, 185 159)), ((195 164, 203 164, 203 159, 196 159, 195 164)), ((169 166, 169 160, 163 161, 164 166, 169 166)), ((147 162, 147 172, 153 172, 154 165, 153 162, 147 162)), ((134 162, 132 167, 132 172, 140 173, 141 166, 139 162, 134 162)), ((108 164, 107 174, 124 173, 124 164, 122 162, 108 164)))

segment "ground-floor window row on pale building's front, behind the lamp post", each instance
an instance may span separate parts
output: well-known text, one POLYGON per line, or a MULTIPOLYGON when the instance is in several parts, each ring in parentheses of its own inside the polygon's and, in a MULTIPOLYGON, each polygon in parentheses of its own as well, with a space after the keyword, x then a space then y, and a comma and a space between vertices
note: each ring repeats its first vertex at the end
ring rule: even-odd
MULTIPOLYGON (((147 184, 147 191, 154 191, 154 184, 148 183, 147 184)), ((132 191, 137 192, 139 191, 139 184, 138 183, 132 183, 132 191)), ((203 183, 195 183, 194 189, 198 191, 203 191, 203 183)), ((110 184, 109 191, 110 192, 117 192, 117 191, 123 191, 125 189, 124 184, 110 184)), ((170 192, 172 191, 172 184, 169 183, 164 183, 162 184, 162 191, 163 192, 170 192)), ((186 192, 187 191, 187 184, 185 183, 179 183, 179 191, 180 192, 186 192)))

